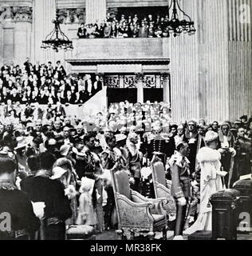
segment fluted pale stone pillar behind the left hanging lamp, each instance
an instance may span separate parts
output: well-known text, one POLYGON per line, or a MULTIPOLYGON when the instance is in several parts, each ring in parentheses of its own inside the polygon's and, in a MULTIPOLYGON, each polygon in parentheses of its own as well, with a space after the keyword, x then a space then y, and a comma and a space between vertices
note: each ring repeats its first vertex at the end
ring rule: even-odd
POLYGON ((53 19, 56 18, 56 0, 33 0, 33 62, 55 62, 53 50, 41 50, 42 41, 45 40, 54 27, 53 19))

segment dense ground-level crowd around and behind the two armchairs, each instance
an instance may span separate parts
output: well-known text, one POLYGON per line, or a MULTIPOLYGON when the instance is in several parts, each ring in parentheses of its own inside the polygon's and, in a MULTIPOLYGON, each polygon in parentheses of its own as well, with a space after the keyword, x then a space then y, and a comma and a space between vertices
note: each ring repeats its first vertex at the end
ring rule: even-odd
POLYGON ((199 192, 196 156, 210 142, 207 132, 214 133, 226 172, 223 186, 251 174, 252 118, 246 116, 221 125, 203 119, 175 124, 167 103, 127 101, 85 120, 57 111, 41 118, 38 104, 36 114, 30 108, 25 112, 1 119, 0 212, 13 217, 14 232, 1 232, 0 238, 17 238, 26 230, 30 238, 65 239, 73 224, 93 226, 98 233, 116 229, 108 170, 128 170, 130 186, 144 194, 142 168, 153 157, 163 162, 171 180, 174 154, 187 151, 188 177, 199 192))

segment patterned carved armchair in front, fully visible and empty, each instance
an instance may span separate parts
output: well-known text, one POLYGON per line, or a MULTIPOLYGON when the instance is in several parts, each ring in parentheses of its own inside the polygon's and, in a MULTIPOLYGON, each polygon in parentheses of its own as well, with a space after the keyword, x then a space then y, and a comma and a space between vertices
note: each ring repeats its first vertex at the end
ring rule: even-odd
POLYGON ((167 238, 167 216, 163 204, 166 198, 149 199, 131 190, 126 170, 111 170, 112 187, 116 201, 118 230, 127 239, 144 235, 153 239, 155 232, 163 232, 167 238))

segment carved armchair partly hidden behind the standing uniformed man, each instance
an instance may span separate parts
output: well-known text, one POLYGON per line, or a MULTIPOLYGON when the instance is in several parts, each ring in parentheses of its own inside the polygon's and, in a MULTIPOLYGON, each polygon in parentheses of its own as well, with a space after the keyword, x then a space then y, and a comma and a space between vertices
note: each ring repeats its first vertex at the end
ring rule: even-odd
POLYGON ((164 205, 164 209, 168 215, 175 214, 175 199, 171 196, 171 181, 165 178, 165 170, 163 162, 152 161, 152 179, 156 198, 167 198, 168 203, 164 205))

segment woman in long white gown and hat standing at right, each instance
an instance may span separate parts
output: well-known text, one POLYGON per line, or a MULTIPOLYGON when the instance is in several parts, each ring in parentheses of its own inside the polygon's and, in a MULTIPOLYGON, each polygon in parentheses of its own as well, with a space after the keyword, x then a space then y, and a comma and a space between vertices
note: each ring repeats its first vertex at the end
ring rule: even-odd
POLYGON ((201 168, 199 216, 196 222, 184 231, 184 234, 212 229, 212 207, 209 199, 212 194, 223 190, 222 177, 226 175, 226 172, 221 171, 221 154, 216 150, 218 134, 212 130, 208 131, 205 142, 207 146, 201 148, 197 154, 201 168))

